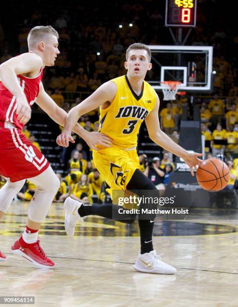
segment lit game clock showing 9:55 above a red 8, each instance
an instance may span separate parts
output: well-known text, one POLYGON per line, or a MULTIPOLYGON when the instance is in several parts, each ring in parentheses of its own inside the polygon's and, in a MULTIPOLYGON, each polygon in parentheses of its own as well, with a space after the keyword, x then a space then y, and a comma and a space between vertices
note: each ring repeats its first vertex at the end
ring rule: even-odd
POLYGON ((196 0, 166 0, 165 26, 195 27, 196 0))

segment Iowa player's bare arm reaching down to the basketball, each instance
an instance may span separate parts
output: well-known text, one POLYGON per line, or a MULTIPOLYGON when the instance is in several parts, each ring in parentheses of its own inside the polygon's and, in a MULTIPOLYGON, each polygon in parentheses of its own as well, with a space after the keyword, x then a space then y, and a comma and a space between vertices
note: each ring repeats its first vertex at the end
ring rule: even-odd
POLYGON ((193 168, 202 162, 202 160, 198 159, 198 157, 201 157, 202 154, 197 154, 197 152, 187 152, 187 150, 172 141, 172 139, 160 129, 158 111, 159 97, 157 96, 157 101, 154 109, 145 119, 149 137, 159 146, 182 158, 184 162, 189 166, 192 176, 194 176, 193 168))

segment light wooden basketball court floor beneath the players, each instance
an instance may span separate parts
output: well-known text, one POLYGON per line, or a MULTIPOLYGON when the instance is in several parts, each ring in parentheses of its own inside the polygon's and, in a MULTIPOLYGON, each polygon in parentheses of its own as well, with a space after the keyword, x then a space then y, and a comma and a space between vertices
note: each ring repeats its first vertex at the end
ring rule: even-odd
POLYGON ((136 223, 87 217, 67 237, 63 204, 53 204, 40 237, 56 266, 44 270, 10 252, 27 209, 15 201, 0 222, 0 249, 8 256, 0 262, 0 296, 35 296, 36 306, 238 306, 235 220, 157 220, 154 248, 177 274, 156 275, 133 269, 136 223))

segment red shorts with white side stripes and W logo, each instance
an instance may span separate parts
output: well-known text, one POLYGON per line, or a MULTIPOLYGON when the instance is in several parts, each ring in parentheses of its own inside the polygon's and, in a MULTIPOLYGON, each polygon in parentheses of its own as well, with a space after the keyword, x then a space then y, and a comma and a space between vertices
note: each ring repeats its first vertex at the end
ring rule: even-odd
POLYGON ((49 162, 20 129, 0 128, 0 174, 11 182, 36 177, 49 162))

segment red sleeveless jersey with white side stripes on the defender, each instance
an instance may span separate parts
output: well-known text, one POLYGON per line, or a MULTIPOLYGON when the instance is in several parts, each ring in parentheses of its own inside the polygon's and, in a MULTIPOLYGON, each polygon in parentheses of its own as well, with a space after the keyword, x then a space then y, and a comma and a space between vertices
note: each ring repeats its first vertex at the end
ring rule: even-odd
MULTIPOLYGON (((43 77, 43 68, 39 75, 35 78, 28 78, 22 75, 17 75, 21 88, 23 89, 27 101, 30 106, 36 101, 40 90, 40 82, 43 77)), ((0 80, 0 127, 11 128, 15 125, 16 128, 23 128, 23 124, 17 119, 16 113, 17 104, 16 97, 3 85, 0 80)))

